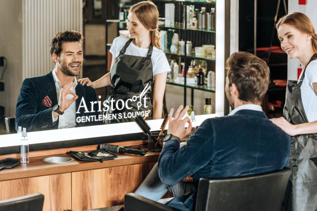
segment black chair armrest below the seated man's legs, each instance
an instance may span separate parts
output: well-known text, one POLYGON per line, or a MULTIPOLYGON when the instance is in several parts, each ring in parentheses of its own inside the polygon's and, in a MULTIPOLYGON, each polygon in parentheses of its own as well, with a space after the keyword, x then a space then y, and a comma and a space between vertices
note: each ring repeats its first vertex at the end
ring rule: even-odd
POLYGON ((135 193, 124 196, 124 211, 174 211, 167 205, 147 199, 135 193))

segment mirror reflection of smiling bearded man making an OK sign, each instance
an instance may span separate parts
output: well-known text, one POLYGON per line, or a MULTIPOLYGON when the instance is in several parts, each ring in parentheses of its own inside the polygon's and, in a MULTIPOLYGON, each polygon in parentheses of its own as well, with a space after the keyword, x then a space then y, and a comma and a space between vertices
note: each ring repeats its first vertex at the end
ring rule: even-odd
POLYGON ((16 129, 21 126, 27 131, 39 131, 98 124, 76 124, 77 117, 99 114, 95 90, 76 80, 83 63, 80 46, 83 39, 82 34, 75 31, 60 32, 52 39, 50 51, 55 69, 47 75, 23 81, 16 103, 16 129), (89 110, 87 113, 79 109, 82 100, 89 110))

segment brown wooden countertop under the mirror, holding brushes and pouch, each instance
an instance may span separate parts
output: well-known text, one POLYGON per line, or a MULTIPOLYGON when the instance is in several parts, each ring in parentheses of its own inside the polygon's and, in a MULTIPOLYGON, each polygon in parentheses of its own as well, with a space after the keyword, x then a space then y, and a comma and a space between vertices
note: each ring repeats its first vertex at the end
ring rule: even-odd
MULTIPOLYGON (((136 149, 138 146, 134 146, 136 149)), ((141 145, 142 148, 146 148, 141 145)), ((90 152, 83 151, 83 152, 90 152)), ((159 152, 148 152, 145 156, 140 155, 131 155, 131 154, 120 154, 117 153, 117 158, 113 160, 100 162, 88 162, 88 161, 79 161, 74 158, 74 161, 63 163, 63 164, 52 164, 45 163, 41 159, 55 156, 62 157, 72 157, 69 154, 56 154, 56 155, 47 155, 47 156, 38 156, 31 157, 29 159, 29 164, 21 164, 12 169, 2 169, 0 171, 0 181, 11 180, 11 179, 20 179, 34 176, 44 176, 58 173, 67 173, 91 169, 102 169, 102 168, 111 168, 118 166, 134 165, 140 163, 149 163, 157 162, 159 159, 159 152)))

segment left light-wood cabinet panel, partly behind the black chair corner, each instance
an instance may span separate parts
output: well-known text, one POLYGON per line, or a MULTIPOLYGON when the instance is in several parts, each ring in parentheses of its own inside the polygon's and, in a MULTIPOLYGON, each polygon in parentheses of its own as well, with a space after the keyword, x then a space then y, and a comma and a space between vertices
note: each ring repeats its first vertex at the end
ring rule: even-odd
POLYGON ((34 193, 44 195, 43 211, 71 209, 71 173, 0 181, 0 200, 34 193))

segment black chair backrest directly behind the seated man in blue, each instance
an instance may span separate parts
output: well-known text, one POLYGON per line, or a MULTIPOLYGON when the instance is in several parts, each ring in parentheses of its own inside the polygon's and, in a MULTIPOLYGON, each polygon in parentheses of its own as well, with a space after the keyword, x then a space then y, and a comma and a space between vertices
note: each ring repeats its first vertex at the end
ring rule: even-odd
POLYGON ((195 211, 280 211, 291 170, 201 178, 195 211))

